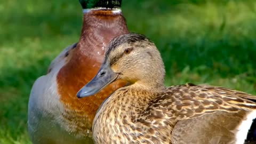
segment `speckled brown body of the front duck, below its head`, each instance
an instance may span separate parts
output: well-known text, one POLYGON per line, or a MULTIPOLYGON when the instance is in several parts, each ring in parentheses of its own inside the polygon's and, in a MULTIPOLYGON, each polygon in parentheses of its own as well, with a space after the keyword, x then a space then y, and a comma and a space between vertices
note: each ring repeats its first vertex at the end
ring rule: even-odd
POLYGON ((252 97, 215 86, 178 85, 159 94, 122 87, 96 115, 93 137, 96 143, 244 143, 239 138, 250 127, 242 123, 256 118, 256 104, 238 95, 252 97), (141 99, 149 94, 155 96, 141 99))

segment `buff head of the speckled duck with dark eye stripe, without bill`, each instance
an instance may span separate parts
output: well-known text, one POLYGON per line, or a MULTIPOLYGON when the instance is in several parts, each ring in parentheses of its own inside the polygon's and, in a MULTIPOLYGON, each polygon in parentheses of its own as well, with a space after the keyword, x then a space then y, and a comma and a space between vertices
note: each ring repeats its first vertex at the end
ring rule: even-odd
POLYGON ((120 79, 143 85, 163 85, 164 63, 155 44, 145 36, 126 34, 110 42, 105 62, 120 79))

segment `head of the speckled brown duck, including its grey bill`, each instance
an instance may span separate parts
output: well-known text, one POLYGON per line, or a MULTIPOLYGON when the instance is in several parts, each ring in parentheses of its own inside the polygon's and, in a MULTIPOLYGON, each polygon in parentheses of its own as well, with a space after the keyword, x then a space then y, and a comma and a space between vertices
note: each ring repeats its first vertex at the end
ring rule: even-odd
POLYGON ((100 70, 77 97, 98 93, 117 79, 143 89, 162 90, 164 76, 164 63, 155 44, 143 35, 125 34, 111 40, 100 70))

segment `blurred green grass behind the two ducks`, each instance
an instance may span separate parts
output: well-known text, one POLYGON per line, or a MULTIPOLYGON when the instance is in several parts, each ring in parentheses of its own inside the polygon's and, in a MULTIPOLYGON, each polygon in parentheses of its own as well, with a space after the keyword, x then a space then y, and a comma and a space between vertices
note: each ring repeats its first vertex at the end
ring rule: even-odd
MULTIPOLYGON (((123 1, 129 29, 156 43, 166 85, 193 82, 256 94, 256 1, 123 1)), ((0 143, 30 143, 27 103, 35 79, 78 41, 78 1, 0 3, 0 143)))

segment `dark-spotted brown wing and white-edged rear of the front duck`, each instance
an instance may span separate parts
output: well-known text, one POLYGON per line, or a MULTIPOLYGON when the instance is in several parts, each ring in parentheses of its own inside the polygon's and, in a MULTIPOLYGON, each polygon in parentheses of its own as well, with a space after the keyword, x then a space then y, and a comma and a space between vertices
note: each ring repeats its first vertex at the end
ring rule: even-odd
POLYGON ((176 122, 173 143, 244 143, 256 118, 253 95, 224 87, 172 86, 158 99, 176 122))

